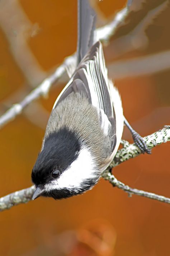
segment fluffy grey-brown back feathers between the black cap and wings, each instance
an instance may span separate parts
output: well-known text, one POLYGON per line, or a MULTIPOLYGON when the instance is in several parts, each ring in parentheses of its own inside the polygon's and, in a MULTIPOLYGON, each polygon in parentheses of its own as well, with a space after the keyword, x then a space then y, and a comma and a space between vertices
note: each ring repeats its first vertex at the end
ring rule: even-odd
POLYGON ((111 152, 110 139, 101 129, 97 109, 85 95, 71 93, 53 109, 44 140, 52 133, 57 134, 63 127, 76 133, 81 142, 91 149, 99 165, 103 165, 111 152))

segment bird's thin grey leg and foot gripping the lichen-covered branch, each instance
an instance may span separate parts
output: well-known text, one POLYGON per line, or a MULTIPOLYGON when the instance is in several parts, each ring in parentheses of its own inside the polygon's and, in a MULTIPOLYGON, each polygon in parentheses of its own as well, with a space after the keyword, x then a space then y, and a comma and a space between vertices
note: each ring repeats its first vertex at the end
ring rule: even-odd
POLYGON ((133 130, 132 126, 129 124, 125 117, 124 124, 130 130, 134 143, 137 145, 138 148, 140 148, 142 153, 144 154, 146 152, 147 154, 151 154, 151 149, 148 149, 145 140, 141 137, 141 135, 139 135, 135 130, 133 130))

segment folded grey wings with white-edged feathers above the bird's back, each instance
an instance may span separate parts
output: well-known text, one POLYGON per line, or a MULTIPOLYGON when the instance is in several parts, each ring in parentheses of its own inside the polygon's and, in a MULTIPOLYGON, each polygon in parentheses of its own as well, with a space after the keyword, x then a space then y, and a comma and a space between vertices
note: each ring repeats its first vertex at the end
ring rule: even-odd
POLYGON ((83 93, 89 102, 98 109, 101 127, 110 137, 112 149, 116 144, 116 124, 113 103, 110 95, 107 69, 101 43, 96 42, 76 68, 71 80, 58 96, 54 107, 70 93, 83 93))

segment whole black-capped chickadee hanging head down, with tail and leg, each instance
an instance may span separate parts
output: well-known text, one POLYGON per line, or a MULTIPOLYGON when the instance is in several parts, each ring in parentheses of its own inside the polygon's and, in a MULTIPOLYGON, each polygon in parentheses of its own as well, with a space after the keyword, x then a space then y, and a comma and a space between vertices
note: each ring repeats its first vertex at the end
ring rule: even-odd
POLYGON ((123 116, 121 97, 108 78, 96 15, 88 0, 78 0, 77 67, 49 117, 41 152, 32 169, 39 196, 76 196, 98 183, 121 142, 124 123, 141 151, 145 142, 123 116))

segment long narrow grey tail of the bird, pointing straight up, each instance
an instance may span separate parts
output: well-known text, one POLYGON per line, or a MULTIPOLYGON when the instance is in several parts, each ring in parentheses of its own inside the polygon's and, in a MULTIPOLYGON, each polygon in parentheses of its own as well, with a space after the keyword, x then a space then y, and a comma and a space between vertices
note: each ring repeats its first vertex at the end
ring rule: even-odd
POLYGON ((77 65, 94 44, 96 14, 89 0, 78 1, 77 65))

